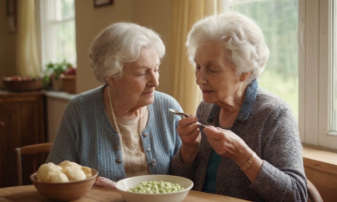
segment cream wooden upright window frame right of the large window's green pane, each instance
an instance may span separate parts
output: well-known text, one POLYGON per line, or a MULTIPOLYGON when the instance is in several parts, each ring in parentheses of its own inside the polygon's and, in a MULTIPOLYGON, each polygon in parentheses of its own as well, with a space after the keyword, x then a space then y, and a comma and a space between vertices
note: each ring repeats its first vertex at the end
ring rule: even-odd
POLYGON ((333 0, 299 1, 299 131, 303 143, 337 149, 330 132, 332 10, 333 0))

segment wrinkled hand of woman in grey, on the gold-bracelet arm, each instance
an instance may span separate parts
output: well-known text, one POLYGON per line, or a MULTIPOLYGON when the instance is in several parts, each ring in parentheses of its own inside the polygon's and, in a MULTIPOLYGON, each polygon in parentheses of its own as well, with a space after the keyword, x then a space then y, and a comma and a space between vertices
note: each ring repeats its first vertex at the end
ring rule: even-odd
POLYGON ((236 161, 248 148, 243 139, 232 131, 210 126, 210 128, 204 128, 204 133, 214 151, 222 157, 236 161))

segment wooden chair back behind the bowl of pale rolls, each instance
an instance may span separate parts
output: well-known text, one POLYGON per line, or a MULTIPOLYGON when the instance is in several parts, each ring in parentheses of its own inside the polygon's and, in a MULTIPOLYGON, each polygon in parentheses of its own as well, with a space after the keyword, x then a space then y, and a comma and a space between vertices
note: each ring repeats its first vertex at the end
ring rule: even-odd
MULTIPOLYGON (((31 144, 27 146, 18 147, 15 149, 16 158, 17 158, 17 175, 18 175, 18 186, 22 186, 22 155, 37 155, 37 154, 49 154, 52 147, 52 142, 31 144)), ((36 172, 40 165, 37 162, 33 161, 33 171, 36 172)))

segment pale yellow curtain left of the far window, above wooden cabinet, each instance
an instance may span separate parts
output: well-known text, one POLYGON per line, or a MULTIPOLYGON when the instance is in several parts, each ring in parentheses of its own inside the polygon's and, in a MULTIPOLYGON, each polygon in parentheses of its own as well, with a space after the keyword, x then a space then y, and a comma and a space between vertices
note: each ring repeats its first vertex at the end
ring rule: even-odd
POLYGON ((17 73, 20 76, 40 76, 35 1, 18 0, 17 73))

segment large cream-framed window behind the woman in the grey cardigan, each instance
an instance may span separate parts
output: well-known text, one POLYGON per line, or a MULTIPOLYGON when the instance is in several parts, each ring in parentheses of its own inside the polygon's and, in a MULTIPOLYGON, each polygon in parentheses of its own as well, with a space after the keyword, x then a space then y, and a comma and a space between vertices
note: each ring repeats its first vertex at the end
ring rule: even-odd
POLYGON ((303 143, 337 149, 337 31, 333 0, 224 0, 255 19, 271 55, 259 85, 283 98, 303 143))

